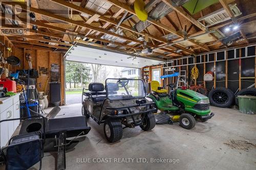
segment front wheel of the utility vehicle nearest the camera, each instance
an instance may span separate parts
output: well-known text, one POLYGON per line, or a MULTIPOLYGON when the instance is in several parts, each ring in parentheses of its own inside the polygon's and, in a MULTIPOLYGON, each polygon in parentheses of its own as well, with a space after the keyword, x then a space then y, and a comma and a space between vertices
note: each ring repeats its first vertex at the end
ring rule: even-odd
POLYGON ((104 122, 105 138, 109 142, 116 142, 123 136, 122 124, 118 119, 106 119, 104 122))

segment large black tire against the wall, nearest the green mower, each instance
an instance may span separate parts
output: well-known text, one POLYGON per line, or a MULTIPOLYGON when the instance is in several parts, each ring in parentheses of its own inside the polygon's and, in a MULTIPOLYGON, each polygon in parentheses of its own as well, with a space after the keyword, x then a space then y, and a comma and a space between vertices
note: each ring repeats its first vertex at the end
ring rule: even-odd
POLYGON ((225 87, 217 87, 208 94, 210 104, 217 107, 229 107, 233 104, 234 93, 225 87))

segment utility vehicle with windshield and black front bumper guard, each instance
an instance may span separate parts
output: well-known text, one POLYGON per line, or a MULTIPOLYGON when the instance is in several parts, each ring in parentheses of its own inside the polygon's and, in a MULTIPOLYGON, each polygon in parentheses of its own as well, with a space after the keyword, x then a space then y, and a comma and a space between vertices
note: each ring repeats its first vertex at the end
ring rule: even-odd
POLYGON ((89 92, 82 92, 82 115, 104 123, 105 138, 116 142, 122 138, 124 128, 140 126, 144 131, 156 125, 154 103, 145 99, 146 90, 141 79, 106 79, 90 83, 89 92), (85 95, 85 99, 83 99, 85 95))

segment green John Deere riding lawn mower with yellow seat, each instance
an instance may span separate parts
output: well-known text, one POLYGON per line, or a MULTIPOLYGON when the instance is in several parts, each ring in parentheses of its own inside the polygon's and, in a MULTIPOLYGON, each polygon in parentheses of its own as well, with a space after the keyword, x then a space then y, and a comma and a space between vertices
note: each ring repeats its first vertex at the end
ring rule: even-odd
POLYGON ((214 113, 209 109, 207 96, 185 87, 174 89, 175 83, 168 84, 170 91, 160 87, 158 81, 151 82, 151 93, 147 95, 155 102, 158 110, 168 113, 172 122, 179 122, 185 129, 192 129, 196 120, 206 122, 214 113))

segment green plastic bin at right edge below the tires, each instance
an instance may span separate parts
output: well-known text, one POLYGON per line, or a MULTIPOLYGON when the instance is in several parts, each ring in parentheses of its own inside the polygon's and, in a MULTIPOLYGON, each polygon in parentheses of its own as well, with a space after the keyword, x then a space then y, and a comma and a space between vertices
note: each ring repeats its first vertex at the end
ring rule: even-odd
POLYGON ((239 111, 246 114, 256 114, 256 96, 238 95, 239 111))

